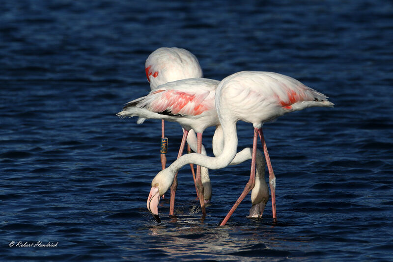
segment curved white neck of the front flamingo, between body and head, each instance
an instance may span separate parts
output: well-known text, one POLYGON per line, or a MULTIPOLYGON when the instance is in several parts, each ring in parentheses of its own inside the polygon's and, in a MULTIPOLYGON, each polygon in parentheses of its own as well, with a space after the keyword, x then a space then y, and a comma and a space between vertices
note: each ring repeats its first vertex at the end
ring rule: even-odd
POLYGON ((224 168, 233 160, 236 156, 237 150, 237 133, 236 133, 236 123, 233 121, 227 121, 226 123, 222 121, 222 128, 224 132, 224 149, 220 156, 218 157, 207 157, 200 154, 187 154, 176 161, 174 161, 168 169, 171 172, 178 171, 182 166, 186 164, 197 164, 208 169, 219 169, 224 168))

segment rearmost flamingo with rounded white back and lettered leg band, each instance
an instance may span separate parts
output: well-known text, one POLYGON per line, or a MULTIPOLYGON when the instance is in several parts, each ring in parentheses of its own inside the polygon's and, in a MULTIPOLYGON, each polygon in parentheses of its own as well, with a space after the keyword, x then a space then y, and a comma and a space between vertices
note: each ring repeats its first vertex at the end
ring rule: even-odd
MULTIPOLYGON (((146 59, 145 71, 151 90, 171 81, 203 77, 197 57, 188 50, 177 47, 162 47, 152 52, 146 59)), ((164 119, 161 121, 161 133, 161 138, 165 138, 164 119)), ((193 137, 195 133, 192 132, 191 135, 193 137)), ((162 153, 162 169, 165 169, 166 162, 167 157, 162 153)))

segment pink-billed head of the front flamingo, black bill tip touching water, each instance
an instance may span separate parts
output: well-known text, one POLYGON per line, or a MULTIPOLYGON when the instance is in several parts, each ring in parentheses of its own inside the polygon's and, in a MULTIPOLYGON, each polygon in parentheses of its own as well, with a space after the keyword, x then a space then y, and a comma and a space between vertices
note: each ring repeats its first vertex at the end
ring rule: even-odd
POLYGON ((167 192, 174 178, 173 175, 173 178, 170 179, 171 173, 167 169, 160 171, 155 176, 151 182, 151 189, 147 198, 147 210, 149 210, 158 223, 161 223, 160 216, 158 215, 158 204, 160 203, 160 197, 164 195, 165 192, 167 192))

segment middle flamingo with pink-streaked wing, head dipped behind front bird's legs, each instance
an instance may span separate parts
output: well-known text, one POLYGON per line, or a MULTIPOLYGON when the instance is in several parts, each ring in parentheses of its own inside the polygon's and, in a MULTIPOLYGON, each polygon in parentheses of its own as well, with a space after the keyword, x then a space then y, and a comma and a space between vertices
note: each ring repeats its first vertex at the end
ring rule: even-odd
MULTIPOLYGON (((213 153, 217 156, 222 153, 224 146, 223 131, 219 125, 217 111, 215 109, 215 91, 220 81, 211 79, 183 79, 168 82, 151 91, 147 96, 127 103, 123 111, 117 115, 120 117, 138 116, 138 123, 146 118, 164 119, 178 122, 184 129, 183 139, 178 158, 181 157, 185 139, 189 131, 197 132, 198 152, 201 152, 203 131, 210 126, 218 125, 213 137, 213 153)), ((252 158, 251 149, 239 152, 231 164, 238 164, 252 158)), ((206 155, 203 150, 202 154, 206 155)), ((257 184, 252 193, 253 207, 250 210, 251 217, 260 217, 269 198, 269 189, 264 180, 264 159, 259 152, 257 158, 257 184)), ((204 205, 211 198, 211 184, 206 168, 201 172, 197 166, 196 188, 201 202, 202 213, 205 214, 204 205)), ((176 174, 174 181, 176 180, 176 174)), ((172 187, 171 187, 172 188, 172 187)), ((171 192, 172 196, 172 192, 171 192)), ((171 203, 172 204, 172 203, 171 203)), ((174 203, 173 203, 174 204, 174 203)), ((174 205, 173 205, 174 206, 174 205)), ((172 205, 171 205, 172 207, 172 205)), ((148 206, 149 208, 149 206, 148 206)), ((152 213, 153 214, 153 213, 152 213)), ((160 221, 158 216, 153 217, 160 221)))

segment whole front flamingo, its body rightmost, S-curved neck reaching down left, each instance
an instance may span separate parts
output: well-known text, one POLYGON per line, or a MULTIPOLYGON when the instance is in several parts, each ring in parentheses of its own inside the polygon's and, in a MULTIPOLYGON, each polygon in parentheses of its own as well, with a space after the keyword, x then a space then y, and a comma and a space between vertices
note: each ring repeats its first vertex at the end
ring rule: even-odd
POLYGON ((225 225, 234 210, 255 185, 255 158, 257 137, 261 139, 269 169, 269 185, 272 198, 273 220, 276 214, 276 177, 270 162, 262 125, 279 116, 311 106, 333 107, 327 96, 307 87, 300 81, 273 72, 242 71, 223 79, 216 90, 215 106, 223 129, 224 146, 218 157, 197 153, 178 158, 152 180, 148 196, 148 209, 158 217, 158 203, 173 181, 174 174, 185 164, 194 163, 209 169, 226 167, 236 156, 236 123, 239 120, 253 124, 253 153, 250 179, 242 194, 220 225, 225 225))

